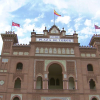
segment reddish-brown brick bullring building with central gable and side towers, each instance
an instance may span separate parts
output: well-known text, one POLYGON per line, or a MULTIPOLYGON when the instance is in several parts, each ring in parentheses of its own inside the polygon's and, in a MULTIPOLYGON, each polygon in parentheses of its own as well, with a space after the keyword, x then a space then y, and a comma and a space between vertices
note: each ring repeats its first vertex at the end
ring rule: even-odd
POLYGON ((100 35, 87 47, 55 25, 31 32, 28 45, 1 36, 0 100, 100 100, 100 35))

